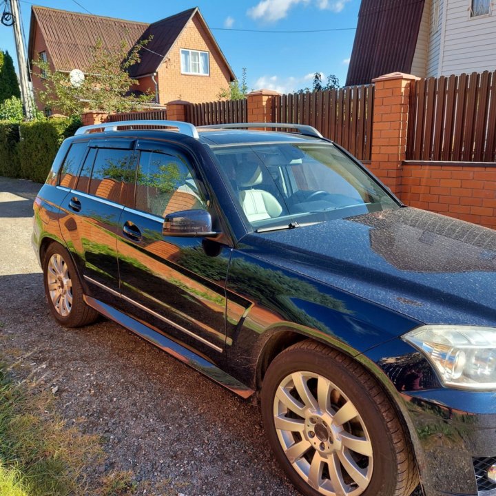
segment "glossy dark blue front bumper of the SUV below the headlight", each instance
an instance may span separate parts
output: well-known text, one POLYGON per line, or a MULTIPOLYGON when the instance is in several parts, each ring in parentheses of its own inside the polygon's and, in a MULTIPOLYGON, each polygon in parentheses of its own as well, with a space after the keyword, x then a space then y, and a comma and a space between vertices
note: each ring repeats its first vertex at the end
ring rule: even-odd
POLYGON ((496 393, 438 389, 402 394, 402 400, 424 494, 496 496, 486 477, 487 464, 496 463, 496 414, 486 413, 495 410, 496 393))

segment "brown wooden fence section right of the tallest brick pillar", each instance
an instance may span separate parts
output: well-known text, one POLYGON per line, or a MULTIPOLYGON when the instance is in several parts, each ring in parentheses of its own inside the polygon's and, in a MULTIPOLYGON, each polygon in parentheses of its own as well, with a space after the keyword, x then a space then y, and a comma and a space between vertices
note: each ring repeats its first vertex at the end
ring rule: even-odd
POLYGON ((406 159, 496 162, 496 71, 413 81, 406 159))

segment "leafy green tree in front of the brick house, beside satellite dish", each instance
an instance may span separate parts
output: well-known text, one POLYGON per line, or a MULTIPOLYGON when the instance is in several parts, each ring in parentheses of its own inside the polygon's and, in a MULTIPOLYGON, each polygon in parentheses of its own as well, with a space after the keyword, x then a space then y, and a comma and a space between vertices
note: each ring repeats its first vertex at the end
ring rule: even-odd
POLYGON ((137 81, 128 70, 140 61, 139 52, 148 42, 149 39, 139 41, 129 51, 124 42, 108 50, 101 40, 97 41, 92 63, 85 69, 85 79, 80 85, 73 85, 68 74, 52 71, 49 63, 33 61, 43 74, 43 89, 37 94, 39 101, 68 116, 87 110, 107 113, 136 110, 140 104, 152 101, 153 96, 130 94, 137 81))

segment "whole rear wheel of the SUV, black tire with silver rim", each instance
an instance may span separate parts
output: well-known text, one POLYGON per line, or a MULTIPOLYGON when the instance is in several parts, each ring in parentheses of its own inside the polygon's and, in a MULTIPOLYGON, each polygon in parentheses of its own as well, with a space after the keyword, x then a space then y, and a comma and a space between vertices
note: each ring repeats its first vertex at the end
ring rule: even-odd
POLYGON ((48 307, 64 327, 92 324, 99 313, 83 300, 83 288, 69 252, 52 243, 43 258, 43 283, 48 307))

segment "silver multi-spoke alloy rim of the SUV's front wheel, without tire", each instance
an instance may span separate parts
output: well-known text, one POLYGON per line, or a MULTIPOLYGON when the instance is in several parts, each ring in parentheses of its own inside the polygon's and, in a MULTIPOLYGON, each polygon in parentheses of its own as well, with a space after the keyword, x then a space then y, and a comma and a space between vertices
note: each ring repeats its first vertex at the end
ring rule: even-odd
POLYGON ((358 496, 369 486, 373 448, 362 416, 322 375, 293 372, 273 401, 278 440, 293 469, 325 496, 358 496))

